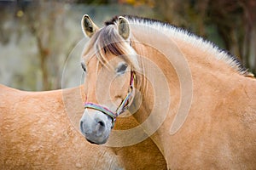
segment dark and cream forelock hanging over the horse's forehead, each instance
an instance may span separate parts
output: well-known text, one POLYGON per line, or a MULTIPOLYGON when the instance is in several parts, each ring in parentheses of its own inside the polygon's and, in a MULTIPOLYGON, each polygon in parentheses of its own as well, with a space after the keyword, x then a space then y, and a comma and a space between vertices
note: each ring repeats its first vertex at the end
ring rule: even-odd
POLYGON ((90 54, 89 57, 92 57, 95 54, 103 65, 109 66, 109 54, 113 54, 125 59, 134 70, 139 70, 137 53, 130 44, 119 36, 116 26, 111 24, 104 26, 91 37, 90 42, 84 48, 84 55, 90 54), (90 50, 93 50, 93 52, 90 50))

